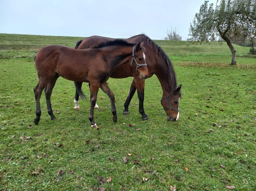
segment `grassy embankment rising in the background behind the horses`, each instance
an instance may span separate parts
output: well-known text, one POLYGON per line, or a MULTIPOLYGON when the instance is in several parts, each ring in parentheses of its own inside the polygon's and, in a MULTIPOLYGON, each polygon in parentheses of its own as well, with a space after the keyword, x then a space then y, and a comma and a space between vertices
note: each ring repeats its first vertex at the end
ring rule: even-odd
MULTIPOLYGON (((58 44, 74 48, 84 37, 0 34, 0 58, 31 57, 44 46, 58 44)), ((155 40, 174 64, 179 63, 230 63, 231 52, 226 43, 191 45, 188 41, 155 40)), ((248 56, 250 47, 234 45, 238 64, 254 64, 248 56), (241 57, 246 57, 240 59, 241 57)), ((254 57, 255 58, 255 57, 254 57)))

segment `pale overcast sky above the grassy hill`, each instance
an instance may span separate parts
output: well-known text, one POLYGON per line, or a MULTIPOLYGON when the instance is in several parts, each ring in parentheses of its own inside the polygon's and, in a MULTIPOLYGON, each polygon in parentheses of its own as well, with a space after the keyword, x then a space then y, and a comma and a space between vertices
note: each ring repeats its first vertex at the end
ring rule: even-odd
MULTIPOLYGON (((215 4, 216 0, 210 0, 215 4)), ((0 33, 186 40, 204 0, 0 0, 0 33)), ((1 40, 1 39, 0 39, 1 40)))

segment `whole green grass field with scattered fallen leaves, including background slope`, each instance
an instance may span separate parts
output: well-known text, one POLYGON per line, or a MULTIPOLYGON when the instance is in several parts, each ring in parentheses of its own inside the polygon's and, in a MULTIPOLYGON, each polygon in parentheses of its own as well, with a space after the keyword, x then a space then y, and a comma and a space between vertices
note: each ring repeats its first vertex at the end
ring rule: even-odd
POLYGON ((179 120, 167 121, 155 76, 145 83, 148 121, 136 96, 122 115, 132 78, 109 79, 118 122, 99 91, 94 129, 89 99, 74 110, 74 83, 62 78, 51 96, 57 120, 42 94, 41 120, 33 124, 33 56, 49 44, 74 47, 81 37, 0 39, 0 190, 256 190, 256 58, 248 47, 235 45, 237 65, 230 66, 225 44, 155 41, 182 84, 179 120))

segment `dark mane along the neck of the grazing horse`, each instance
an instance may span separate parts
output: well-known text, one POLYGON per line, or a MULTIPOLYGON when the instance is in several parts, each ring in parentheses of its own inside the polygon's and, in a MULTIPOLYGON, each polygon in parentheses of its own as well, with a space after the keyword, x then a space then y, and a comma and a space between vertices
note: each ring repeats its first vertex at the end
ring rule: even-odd
MULTIPOLYGON (((146 36, 144 34, 140 34, 138 36, 145 38, 147 40, 147 43, 149 45, 153 46, 155 51, 157 52, 157 54, 159 54, 160 58, 162 58, 163 62, 165 63, 165 66, 166 66, 166 73, 168 75, 169 85, 171 87, 171 90, 173 90, 173 92, 174 92, 176 90, 176 88, 177 88, 177 81, 176 81, 176 74, 174 72, 174 68, 172 66, 172 63, 171 63, 169 57, 165 54, 163 49, 161 47, 159 47, 148 36, 146 36)), ((180 92, 179 92, 179 97, 181 97, 181 93, 180 92)))

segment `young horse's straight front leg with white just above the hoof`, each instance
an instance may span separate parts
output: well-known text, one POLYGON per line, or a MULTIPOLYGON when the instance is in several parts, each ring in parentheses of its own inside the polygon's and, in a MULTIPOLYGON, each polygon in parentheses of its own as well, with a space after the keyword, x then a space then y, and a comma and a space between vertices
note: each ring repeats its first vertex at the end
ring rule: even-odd
POLYGON ((94 112, 94 107, 95 107, 95 104, 96 104, 96 101, 97 101, 97 95, 98 95, 99 87, 100 87, 100 84, 91 83, 91 88, 90 88, 91 107, 90 107, 90 113, 89 113, 89 120, 91 121, 92 127, 96 127, 96 128, 97 128, 97 124, 94 121, 93 112, 94 112))

